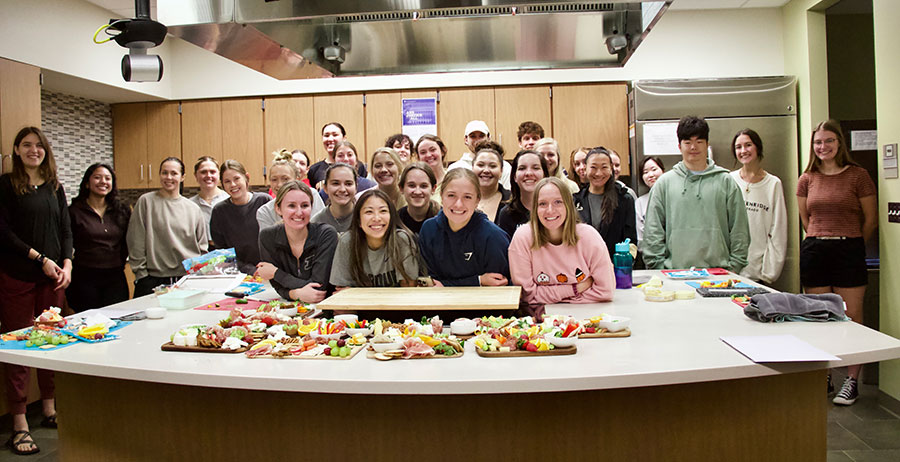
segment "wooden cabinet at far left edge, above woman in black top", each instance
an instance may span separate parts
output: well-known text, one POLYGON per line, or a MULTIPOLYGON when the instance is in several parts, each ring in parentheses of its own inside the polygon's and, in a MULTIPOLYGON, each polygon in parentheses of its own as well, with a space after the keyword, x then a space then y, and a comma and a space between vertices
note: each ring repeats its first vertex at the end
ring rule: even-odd
POLYGON ((0 58, 0 153, 12 168, 13 141, 22 127, 41 126, 41 69, 0 58))

